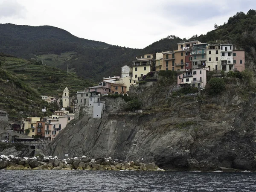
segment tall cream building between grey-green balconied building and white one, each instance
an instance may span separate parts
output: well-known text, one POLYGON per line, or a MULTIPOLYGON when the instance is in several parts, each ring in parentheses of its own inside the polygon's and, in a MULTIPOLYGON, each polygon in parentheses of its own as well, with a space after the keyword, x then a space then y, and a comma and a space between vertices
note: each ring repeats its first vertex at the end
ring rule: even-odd
POLYGON ((207 46, 207 61, 206 66, 209 70, 221 70, 221 49, 219 44, 211 44, 207 46))

